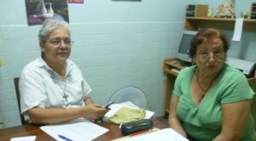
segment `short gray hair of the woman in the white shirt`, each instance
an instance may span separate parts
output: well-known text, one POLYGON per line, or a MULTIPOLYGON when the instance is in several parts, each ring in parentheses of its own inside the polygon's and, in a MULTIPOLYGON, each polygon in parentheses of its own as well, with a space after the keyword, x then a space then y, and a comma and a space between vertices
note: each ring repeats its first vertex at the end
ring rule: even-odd
POLYGON ((67 29, 70 36, 70 31, 68 29, 68 24, 63 20, 47 19, 44 20, 44 24, 38 33, 39 42, 45 43, 49 37, 49 34, 57 28, 67 29))

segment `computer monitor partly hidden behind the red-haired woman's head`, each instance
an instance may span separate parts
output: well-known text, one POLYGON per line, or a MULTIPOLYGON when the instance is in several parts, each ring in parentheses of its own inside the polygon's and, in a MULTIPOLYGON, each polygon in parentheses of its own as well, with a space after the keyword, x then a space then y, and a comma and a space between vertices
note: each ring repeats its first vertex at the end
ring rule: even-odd
POLYGON ((177 59, 181 59, 186 62, 191 62, 189 57, 190 41, 195 36, 197 31, 183 31, 182 37, 177 48, 177 59))

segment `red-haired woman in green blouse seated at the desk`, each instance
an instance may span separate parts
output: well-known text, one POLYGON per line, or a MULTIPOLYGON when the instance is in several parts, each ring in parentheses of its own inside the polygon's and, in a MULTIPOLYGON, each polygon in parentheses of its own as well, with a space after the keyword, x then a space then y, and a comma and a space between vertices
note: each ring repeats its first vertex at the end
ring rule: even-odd
POLYGON ((217 29, 191 40, 195 65, 179 72, 169 125, 189 140, 255 141, 250 102, 255 94, 241 71, 225 64, 229 41, 217 29))

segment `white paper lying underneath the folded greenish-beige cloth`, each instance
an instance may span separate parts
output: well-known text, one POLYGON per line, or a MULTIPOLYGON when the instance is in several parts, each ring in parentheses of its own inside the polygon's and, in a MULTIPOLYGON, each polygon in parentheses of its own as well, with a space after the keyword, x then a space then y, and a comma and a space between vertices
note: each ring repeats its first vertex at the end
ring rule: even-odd
MULTIPOLYGON (((119 103, 119 104, 111 104, 109 106, 110 110, 103 116, 103 121, 108 121, 108 118, 113 116, 119 109, 122 107, 128 107, 128 108, 136 108, 138 109, 136 104, 132 104, 130 101, 124 102, 124 103, 119 103)), ((146 110, 146 115, 144 119, 149 119, 154 115, 153 111, 146 110)))

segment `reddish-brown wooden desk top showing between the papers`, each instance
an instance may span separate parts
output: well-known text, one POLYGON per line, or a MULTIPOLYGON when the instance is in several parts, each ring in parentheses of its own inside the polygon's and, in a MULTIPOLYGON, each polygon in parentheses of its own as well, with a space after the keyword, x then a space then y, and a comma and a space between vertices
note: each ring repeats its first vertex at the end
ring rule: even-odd
MULTIPOLYGON (((160 129, 165 128, 159 120, 154 119, 154 127, 160 129)), ((102 122, 98 124, 99 126, 106 127, 109 129, 108 133, 104 133, 102 136, 94 139, 94 141, 104 141, 111 140, 114 138, 123 137, 119 126, 110 122, 102 122)), ((84 131, 86 132, 86 131, 84 131)), ((21 137, 21 136, 37 136, 36 141, 55 141, 54 138, 51 138, 47 133, 44 133, 40 129, 40 126, 26 124, 19 127, 11 127, 7 129, 0 130, 0 141, 9 141, 10 138, 21 137)))

